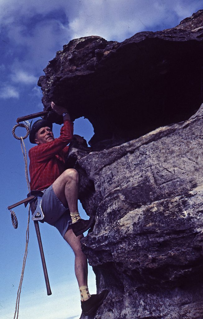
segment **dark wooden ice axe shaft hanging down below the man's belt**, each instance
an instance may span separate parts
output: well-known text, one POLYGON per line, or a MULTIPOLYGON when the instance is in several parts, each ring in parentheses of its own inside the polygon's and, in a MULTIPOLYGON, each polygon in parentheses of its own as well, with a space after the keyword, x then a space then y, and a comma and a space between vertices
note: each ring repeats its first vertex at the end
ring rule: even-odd
MULTIPOLYGON (((33 202, 30 204, 30 208, 31 208, 31 211, 33 214, 35 211, 35 204, 33 202)), ((36 234, 37 234, 39 251, 40 251, 41 260, 42 260, 42 267, 43 267, 44 276, 45 276, 46 291, 47 291, 47 295, 50 296, 52 294, 52 292, 51 292, 51 288, 49 285, 49 278, 48 278, 48 273, 47 273, 47 269, 46 269, 45 256, 44 256, 44 251, 43 251, 43 247, 42 247, 41 235, 40 235, 40 231, 39 231, 39 223, 37 220, 34 220, 34 225, 35 225, 35 230, 36 230, 36 234)))

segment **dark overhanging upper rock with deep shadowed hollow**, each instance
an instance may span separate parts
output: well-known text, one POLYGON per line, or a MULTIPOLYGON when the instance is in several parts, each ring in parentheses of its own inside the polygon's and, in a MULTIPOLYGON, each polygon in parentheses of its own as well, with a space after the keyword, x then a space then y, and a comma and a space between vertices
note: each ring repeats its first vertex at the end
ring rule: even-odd
MULTIPOLYGON (((202 103, 203 10, 180 25, 118 43, 98 36, 70 41, 40 77, 43 104, 93 124, 91 146, 118 145, 188 119, 202 103)), ((62 119, 49 115, 53 122, 62 119)))

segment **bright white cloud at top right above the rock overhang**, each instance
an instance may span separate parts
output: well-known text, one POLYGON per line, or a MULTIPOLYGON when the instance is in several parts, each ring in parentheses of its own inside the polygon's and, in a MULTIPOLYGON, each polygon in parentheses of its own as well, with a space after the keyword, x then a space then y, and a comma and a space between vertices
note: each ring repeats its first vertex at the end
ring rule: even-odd
POLYGON ((179 22, 191 15, 192 8, 198 3, 198 0, 81 1, 77 14, 70 19, 71 38, 100 35, 106 40, 123 41, 137 32, 150 31, 157 25, 163 24, 160 30, 164 28, 164 23, 175 26, 177 19, 179 22))

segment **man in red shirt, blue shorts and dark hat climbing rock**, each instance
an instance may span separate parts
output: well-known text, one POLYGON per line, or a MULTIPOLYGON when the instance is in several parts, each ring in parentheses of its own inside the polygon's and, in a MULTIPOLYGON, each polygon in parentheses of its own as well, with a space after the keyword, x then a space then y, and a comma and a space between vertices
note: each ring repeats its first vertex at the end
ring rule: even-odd
MULTIPOLYGON (((88 291, 87 257, 81 250, 83 233, 94 223, 94 218, 81 219, 78 212, 78 172, 75 169, 64 169, 66 146, 73 138, 73 123, 67 109, 51 102, 51 107, 63 115, 64 124, 60 137, 54 139, 52 123, 38 120, 32 125, 30 142, 37 144, 29 151, 31 190, 43 191, 41 207, 44 221, 55 226, 75 254, 75 276, 81 294, 81 308, 84 315, 91 315, 101 305, 108 294, 90 295, 88 291)), ((76 136, 80 142, 82 137, 76 136)))

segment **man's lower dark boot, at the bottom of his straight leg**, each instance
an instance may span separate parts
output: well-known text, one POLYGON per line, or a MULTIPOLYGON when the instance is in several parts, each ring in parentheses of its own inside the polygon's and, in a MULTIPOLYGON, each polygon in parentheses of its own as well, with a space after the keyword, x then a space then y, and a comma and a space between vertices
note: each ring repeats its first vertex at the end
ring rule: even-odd
POLYGON ((107 295, 108 290, 104 289, 99 294, 91 295, 88 300, 81 301, 82 314, 85 316, 92 315, 99 308, 107 295))

